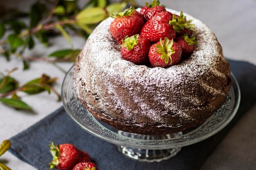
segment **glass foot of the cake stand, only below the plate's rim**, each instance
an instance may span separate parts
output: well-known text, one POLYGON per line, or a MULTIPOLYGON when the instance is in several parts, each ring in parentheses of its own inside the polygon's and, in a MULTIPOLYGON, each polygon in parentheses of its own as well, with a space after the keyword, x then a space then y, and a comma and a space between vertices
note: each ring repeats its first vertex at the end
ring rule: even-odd
POLYGON ((126 157, 142 162, 161 162, 174 157, 181 150, 181 147, 163 150, 136 149, 126 146, 117 147, 126 157))

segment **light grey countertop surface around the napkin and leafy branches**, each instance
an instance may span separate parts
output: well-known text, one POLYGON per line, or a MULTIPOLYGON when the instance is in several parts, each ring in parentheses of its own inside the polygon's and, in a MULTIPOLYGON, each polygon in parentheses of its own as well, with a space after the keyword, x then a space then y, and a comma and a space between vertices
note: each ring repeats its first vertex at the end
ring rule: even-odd
MULTIPOLYGON (((150 0, 148 0, 150 1, 150 0)), ((19 7, 27 10, 33 0, 0 1, 0 5, 7 7, 19 7)), ((144 5, 144 1, 137 1, 144 5)), ((244 60, 256 64, 256 0, 162 0, 168 8, 184 11, 202 20, 216 34, 223 48, 225 57, 233 60, 244 60)), ((80 2, 84 3, 84 2, 80 2)), ((81 48, 84 40, 72 37, 75 48, 81 48)), ((70 45, 62 37, 54 38, 48 49, 43 45, 36 45, 36 49, 26 51, 27 56, 46 56, 56 49, 70 48, 70 45)), ((58 66, 67 71, 72 63, 59 63, 58 66)), ((32 62, 28 71, 22 71, 20 59, 11 57, 7 62, 0 57, 0 72, 18 67, 18 71, 12 74, 20 84, 30 79, 40 77, 42 73, 58 77, 55 86, 61 91, 61 83, 65 73, 56 66, 47 62, 32 62)), ((22 99, 33 106, 34 113, 16 111, 0 104, 0 141, 9 139, 18 132, 25 130, 43 117, 62 106, 56 102, 56 96, 46 92, 38 95, 22 95, 22 99)), ((256 167, 256 105, 232 128, 216 150, 208 157, 201 170, 253 170, 256 167), (248 140, 248 137, 250 140, 248 140)), ((0 162, 4 162, 13 170, 34 170, 29 164, 20 161, 9 152, 4 154, 0 162)))

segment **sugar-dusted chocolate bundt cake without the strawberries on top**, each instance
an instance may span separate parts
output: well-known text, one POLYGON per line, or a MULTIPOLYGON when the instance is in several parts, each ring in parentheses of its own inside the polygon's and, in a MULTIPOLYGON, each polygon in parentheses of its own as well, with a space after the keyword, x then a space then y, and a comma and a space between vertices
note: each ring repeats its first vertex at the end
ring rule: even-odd
POLYGON ((169 68, 124 60, 109 32, 114 19, 97 26, 74 69, 76 95, 94 117, 126 132, 164 135, 204 122, 225 102, 231 75, 222 48, 205 24, 186 16, 195 24, 197 44, 169 68))

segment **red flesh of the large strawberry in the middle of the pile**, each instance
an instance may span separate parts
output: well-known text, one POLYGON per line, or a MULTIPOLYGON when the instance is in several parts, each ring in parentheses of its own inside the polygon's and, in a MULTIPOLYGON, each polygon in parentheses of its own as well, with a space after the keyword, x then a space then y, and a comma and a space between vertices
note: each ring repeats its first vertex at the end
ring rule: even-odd
POLYGON ((172 20, 173 14, 164 11, 155 14, 141 29, 141 36, 150 40, 150 42, 159 42, 162 38, 175 38, 175 30, 168 24, 169 20, 172 20))

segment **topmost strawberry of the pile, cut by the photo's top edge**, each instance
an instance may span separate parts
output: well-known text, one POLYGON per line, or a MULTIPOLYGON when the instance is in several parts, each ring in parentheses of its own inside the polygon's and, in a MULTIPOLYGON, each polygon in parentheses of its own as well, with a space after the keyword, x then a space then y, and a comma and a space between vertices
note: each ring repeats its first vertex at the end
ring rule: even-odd
POLYGON ((145 4, 146 6, 141 8, 140 13, 144 16, 146 20, 149 20, 159 12, 166 11, 164 5, 159 5, 159 0, 153 0, 150 4, 148 4, 148 2, 145 2, 145 4))

